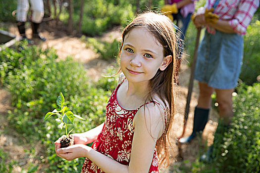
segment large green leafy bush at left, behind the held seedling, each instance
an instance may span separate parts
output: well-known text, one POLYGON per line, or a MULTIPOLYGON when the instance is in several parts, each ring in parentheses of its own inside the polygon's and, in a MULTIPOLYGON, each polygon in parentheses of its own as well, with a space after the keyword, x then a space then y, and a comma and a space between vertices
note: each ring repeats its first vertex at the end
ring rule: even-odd
MULTIPOLYGON (((69 109, 86 119, 75 120, 73 133, 94 128, 104 122, 105 106, 112 90, 107 88, 115 87, 116 80, 109 78, 108 83, 105 79, 94 83, 86 76, 82 64, 71 58, 57 61, 53 49, 43 50, 26 43, 18 47, 1 51, 8 68, 1 68, 0 74, 4 74, 3 86, 10 91, 14 106, 7 116, 9 126, 19 131, 26 144, 42 141, 43 157, 35 156, 34 150, 28 153, 38 159, 39 164, 49 165, 44 170, 46 173, 80 172, 84 158, 69 162, 56 157, 53 143, 64 132, 56 127, 54 119, 43 123, 44 116, 54 109, 56 98, 62 92, 69 109), (11 56, 13 58, 9 58, 11 56)), ((31 165, 30 170, 37 167, 31 165)))

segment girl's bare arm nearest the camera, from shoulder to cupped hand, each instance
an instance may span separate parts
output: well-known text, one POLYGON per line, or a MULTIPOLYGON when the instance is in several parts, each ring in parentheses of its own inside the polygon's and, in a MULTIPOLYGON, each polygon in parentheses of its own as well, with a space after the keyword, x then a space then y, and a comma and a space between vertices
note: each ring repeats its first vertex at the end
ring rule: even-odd
POLYGON ((61 149, 55 145, 56 154, 67 160, 87 157, 105 173, 147 173, 154 156, 156 140, 163 131, 163 113, 157 105, 153 104, 149 104, 145 111, 144 108, 141 108, 136 113, 129 166, 122 165, 91 147, 82 144, 61 149))

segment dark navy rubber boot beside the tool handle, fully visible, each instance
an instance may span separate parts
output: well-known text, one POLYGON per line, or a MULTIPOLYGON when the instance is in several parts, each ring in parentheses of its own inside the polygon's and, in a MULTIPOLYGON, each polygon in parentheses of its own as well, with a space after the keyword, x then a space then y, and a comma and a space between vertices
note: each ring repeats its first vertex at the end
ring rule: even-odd
POLYGON ((203 131, 207 122, 208 122, 208 113, 209 109, 203 109, 203 108, 195 108, 194 111, 194 119, 193 119, 193 130, 190 136, 188 137, 182 137, 180 138, 179 142, 189 143, 196 137, 196 133, 199 131, 203 131))

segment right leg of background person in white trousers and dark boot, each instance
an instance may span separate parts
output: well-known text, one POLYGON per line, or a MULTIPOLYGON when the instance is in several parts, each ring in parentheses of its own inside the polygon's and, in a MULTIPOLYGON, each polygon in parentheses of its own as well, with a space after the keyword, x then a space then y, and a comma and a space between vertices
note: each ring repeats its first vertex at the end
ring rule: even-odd
POLYGON ((46 39, 39 35, 38 29, 39 25, 43 20, 44 16, 44 3, 43 0, 30 0, 31 8, 32 8, 32 30, 33 30, 33 37, 39 38, 42 41, 46 41, 46 39))

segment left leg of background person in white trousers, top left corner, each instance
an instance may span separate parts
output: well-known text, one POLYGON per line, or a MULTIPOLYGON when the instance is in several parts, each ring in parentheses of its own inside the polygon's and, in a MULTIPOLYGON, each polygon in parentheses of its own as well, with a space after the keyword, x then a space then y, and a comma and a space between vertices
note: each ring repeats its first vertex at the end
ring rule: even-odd
POLYGON ((27 13, 29 10, 28 0, 18 0, 17 11, 16 11, 16 21, 20 36, 23 39, 27 39, 25 35, 25 22, 27 20, 27 13))

